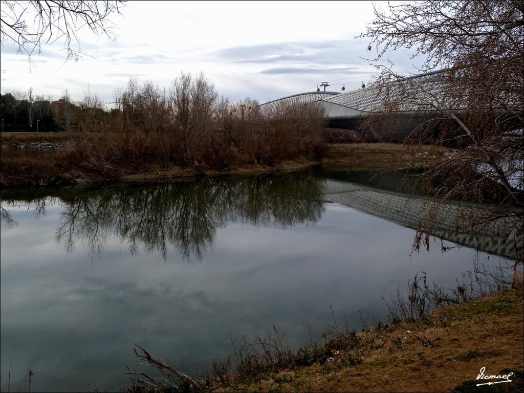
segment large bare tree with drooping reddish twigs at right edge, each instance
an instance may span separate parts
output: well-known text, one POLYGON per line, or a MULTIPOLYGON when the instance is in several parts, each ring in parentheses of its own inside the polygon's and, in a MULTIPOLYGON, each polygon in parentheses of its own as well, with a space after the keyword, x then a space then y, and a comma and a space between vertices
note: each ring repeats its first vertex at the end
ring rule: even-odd
MULTIPOLYGON (((392 119, 412 111, 417 123, 407 139, 458 148, 427 164, 418 185, 431 192, 435 209, 446 199, 492 202, 495 208, 470 217, 470 228, 509 219, 522 259, 524 179, 524 6, 521 1, 426 0, 375 9, 376 19, 360 37, 376 47, 370 59, 379 69, 372 84, 380 115, 365 127, 374 132, 398 127, 392 119), (421 73, 410 79, 381 63, 392 50, 416 48, 421 73), (515 221, 516 220, 516 221, 515 221)), ((405 125, 404 125, 405 126, 405 125)), ((437 216, 420 221, 416 245, 437 216)))

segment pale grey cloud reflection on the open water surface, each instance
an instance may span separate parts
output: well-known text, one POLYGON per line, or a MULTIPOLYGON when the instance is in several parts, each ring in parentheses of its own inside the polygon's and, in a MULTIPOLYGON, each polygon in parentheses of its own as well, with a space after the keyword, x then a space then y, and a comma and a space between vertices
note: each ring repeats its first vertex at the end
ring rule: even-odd
MULTIPOLYGON (((281 183, 294 192, 293 181, 285 180, 281 183)), ((249 185, 253 186, 244 183, 249 185)), ((216 192, 226 188, 221 182, 215 186, 216 192)), ((145 187, 145 194, 137 192, 144 187, 137 185, 128 194, 123 191, 133 187, 119 185, 126 198, 111 204, 115 214, 127 196, 143 195, 144 209, 173 202, 170 193, 162 200, 150 198, 158 191, 156 185, 145 187)), ((232 190, 232 198, 242 196, 243 189, 232 190)), ((75 195, 92 198, 100 191, 51 190, 64 200, 46 205, 41 220, 35 221, 34 209, 21 202, 13 208, 21 225, 2 227, 2 369, 9 367, 12 357, 14 386, 26 380, 28 364, 35 374, 38 370, 40 390, 75 389, 85 375, 96 375, 97 387, 119 386, 124 379, 130 383, 124 365, 148 373, 132 354, 133 343, 177 366, 183 358, 185 369, 181 368, 191 373, 193 363, 205 371, 214 357, 226 356, 231 339, 264 335, 273 325, 297 346, 310 335, 320 340, 324 322, 332 321, 331 303, 337 319, 347 314, 348 328, 358 329, 358 310, 368 319, 385 318, 381 297, 389 297, 398 286, 404 288, 417 271, 427 271, 444 287, 456 287, 454 277, 475 257, 470 249, 441 254, 438 247, 410 257, 409 228, 329 204, 314 225, 286 231, 273 223, 259 227, 229 222, 217 231, 213 253, 201 263, 194 257, 185 263, 175 253, 165 263, 143 247, 139 256, 132 256, 125 252, 126 243, 113 236, 100 260, 89 264, 84 249, 65 255, 56 247, 53 233, 63 220, 65 201, 72 203, 75 195)), ((253 191, 256 210, 279 202, 276 196, 285 190, 269 189, 267 203, 259 203, 265 200, 259 189, 253 191)), ((42 190, 45 195, 49 192, 42 190)), ((188 213, 193 214, 190 202, 188 213)), ((281 204, 275 209, 288 212, 281 204)), ((97 208, 96 203, 90 207, 97 208)), ((165 218, 157 216, 160 222, 165 218)), ((487 263, 497 266, 499 259, 492 257, 487 263)))

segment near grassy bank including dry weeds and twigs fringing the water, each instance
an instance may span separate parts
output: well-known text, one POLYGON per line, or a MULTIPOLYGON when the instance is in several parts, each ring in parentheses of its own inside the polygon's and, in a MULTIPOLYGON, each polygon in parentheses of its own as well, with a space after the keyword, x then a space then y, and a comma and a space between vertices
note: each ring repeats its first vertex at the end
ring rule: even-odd
POLYGON ((138 382, 124 391, 520 392, 524 383, 522 271, 517 266, 515 274, 506 273, 503 269, 480 272, 449 293, 438 286, 430 289, 425 275, 415 277, 407 297, 399 292, 387 303, 388 323, 363 322, 362 331, 356 332, 335 322, 324 334, 323 344, 311 343, 298 351, 274 328, 265 337, 235 345, 230 357, 213 362, 212 377, 198 381, 177 374, 137 347, 135 353, 142 361, 161 369, 166 377, 178 375, 182 383, 155 387, 154 380, 148 384, 148 378, 138 373, 138 382), (479 380, 481 373, 513 374, 508 378, 511 382, 477 387, 501 380, 479 380))

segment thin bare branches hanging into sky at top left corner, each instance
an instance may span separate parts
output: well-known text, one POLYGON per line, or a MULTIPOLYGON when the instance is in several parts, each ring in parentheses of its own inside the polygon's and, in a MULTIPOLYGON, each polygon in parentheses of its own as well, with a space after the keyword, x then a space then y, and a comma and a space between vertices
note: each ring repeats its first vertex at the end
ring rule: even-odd
POLYGON ((96 35, 113 39, 109 17, 120 13, 124 1, 2 0, 1 5, 2 46, 6 41, 13 42, 18 52, 31 58, 32 54, 40 52, 42 42, 61 41, 67 50, 67 59, 78 60, 82 53, 78 37, 80 29, 87 27, 96 35))

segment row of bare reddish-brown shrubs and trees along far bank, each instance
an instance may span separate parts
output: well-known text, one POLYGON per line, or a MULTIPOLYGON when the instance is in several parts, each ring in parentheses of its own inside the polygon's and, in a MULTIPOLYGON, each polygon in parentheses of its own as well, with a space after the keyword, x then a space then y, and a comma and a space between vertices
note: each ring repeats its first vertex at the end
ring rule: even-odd
POLYGON ((266 113, 256 100, 219 97, 203 73, 182 72, 168 88, 131 79, 115 91, 114 103, 106 110, 89 88, 78 102, 67 92, 51 102, 33 98, 30 90, 2 95, 2 116, 7 127, 36 131, 38 120, 46 130, 72 132, 74 161, 97 169, 154 163, 163 170, 170 165, 225 170, 238 162, 318 159, 327 149, 321 107, 282 104, 266 113), (95 136, 75 135, 79 132, 95 136))

